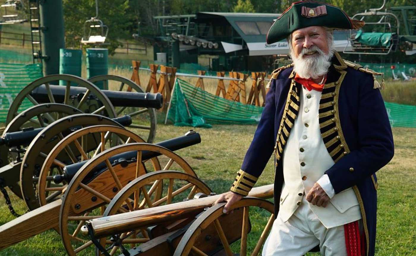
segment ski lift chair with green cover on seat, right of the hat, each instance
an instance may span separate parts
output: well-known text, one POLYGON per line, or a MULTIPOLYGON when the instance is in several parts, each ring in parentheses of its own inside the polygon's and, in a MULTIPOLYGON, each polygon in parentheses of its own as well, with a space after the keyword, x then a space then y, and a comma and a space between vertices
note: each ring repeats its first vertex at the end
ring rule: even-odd
POLYGON ((373 25, 375 27, 383 27, 384 31, 381 33, 366 33, 363 30, 350 30, 349 43, 344 48, 344 53, 353 54, 378 54, 387 55, 390 52, 396 51, 399 45, 399 26, 400 22, 396 15, 393 13, 381 12, 386 0, 384 0, 381 8, 370 9, 369 12, 357 13, 352 16, 352 19, 364 20, 369 16, 381 16, 377 22, 366 22, 364 27, 373 25), (393 18, 394 24, 389 22, 389 19, 393 18), (350 46, 352 50, 347 50, 350 46))

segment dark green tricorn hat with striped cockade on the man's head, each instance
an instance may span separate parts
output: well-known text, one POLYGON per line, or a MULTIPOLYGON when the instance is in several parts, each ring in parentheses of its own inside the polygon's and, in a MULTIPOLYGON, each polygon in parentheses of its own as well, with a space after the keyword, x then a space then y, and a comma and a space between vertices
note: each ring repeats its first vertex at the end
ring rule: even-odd
POLYGON ((311 26, 322 26, 334 29, 359 29, 364 26, 362 20, 352 20, 347 13, 334 5, 315 1, 292 3, 266 35, 267 44, 287 38, 293 31, 311 26))

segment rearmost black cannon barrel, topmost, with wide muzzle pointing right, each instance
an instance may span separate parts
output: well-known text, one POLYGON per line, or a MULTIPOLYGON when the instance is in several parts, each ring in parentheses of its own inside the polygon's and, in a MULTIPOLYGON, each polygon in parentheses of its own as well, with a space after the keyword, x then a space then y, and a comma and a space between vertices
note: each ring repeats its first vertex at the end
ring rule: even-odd
MULTIPOLYGON (((65 86, 50 85, 53 97, 56 102, 64 102, 65 86)), ((71 87, 70 97, 82 98, 87 88, 71 87)), ((143 107, 159 109, 163 106, 163 96, 160 93, 133 93, 124 91, 102 90, 102 92, 109 98, 114 107, 143 107)), ((38 86, 32 90, 30 95, 39 103, 49 103, 49 97, 45 85, 38 86)), ((94 97, 90 95, 90 97, 94 97)))

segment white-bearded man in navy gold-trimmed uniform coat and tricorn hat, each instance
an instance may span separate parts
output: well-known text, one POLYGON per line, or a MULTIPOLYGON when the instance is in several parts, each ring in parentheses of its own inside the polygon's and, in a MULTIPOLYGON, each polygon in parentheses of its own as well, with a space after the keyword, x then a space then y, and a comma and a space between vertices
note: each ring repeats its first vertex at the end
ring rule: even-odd
MULTIPOLYGON (((343 60, 334 29, 358 29, 333 5, 293 3, 267 43, 287 38, 293 64, 272 74, 266 104, 224 212, 247 196, 275 154, 275 216, 263 256, 372 256, 376 235, 375 172, 394 155, 376 73, 343 60)), ((380 74, 381 75, 381 74, 380 74)), ((383 86, 384 82, 381 83, 383 86)))

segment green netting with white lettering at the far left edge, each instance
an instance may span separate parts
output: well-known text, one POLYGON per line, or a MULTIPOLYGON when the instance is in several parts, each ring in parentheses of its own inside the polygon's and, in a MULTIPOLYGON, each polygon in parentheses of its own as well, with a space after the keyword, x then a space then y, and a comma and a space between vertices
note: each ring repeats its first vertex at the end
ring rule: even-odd
MULTIPOLYGON (((42 67, 39 64, 5 64, 0 63, 0 122, 6 121, 10 104, 16 95, 30 82, 42 77, 42 67)), ((20 105, 19 112, 32 106, 25 99, 20 105)))

